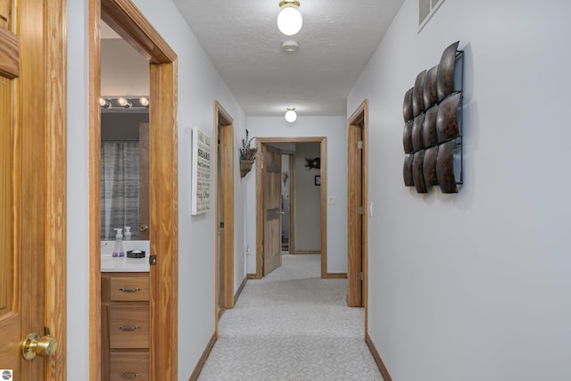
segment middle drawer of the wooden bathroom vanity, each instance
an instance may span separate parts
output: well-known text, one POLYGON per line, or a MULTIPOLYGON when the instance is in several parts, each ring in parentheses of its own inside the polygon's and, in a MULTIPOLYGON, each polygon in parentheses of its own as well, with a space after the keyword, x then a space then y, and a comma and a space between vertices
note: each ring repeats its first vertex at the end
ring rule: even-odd
POLYGON ((115 303, 109 308, 111 348, 148 348, 149 304, 115 303))

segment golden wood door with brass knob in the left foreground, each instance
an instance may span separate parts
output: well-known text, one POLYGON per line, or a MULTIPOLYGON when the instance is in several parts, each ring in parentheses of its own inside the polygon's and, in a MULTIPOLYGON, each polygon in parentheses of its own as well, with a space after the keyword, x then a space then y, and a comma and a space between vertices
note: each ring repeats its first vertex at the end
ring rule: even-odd
POLYGON ((66 379, 65 6, 44 5, 0 2, 0 369, 22 381, 66 379))

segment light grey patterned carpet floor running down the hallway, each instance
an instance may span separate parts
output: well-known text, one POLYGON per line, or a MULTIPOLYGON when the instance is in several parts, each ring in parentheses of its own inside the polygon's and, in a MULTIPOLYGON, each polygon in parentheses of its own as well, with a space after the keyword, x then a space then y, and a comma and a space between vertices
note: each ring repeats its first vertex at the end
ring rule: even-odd
POLYGON ((346 305, 346 279, 321 279, 319 255, 283 255, 248 280, 199 380, 383 380, 363 340, 364 311, 346 305))

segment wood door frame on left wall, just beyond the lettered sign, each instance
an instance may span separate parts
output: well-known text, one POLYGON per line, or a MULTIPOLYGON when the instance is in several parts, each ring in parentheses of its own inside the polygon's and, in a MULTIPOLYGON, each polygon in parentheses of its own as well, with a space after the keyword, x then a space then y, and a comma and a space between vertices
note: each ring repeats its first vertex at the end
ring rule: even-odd
POLYGON ((214 304, 216 313, 215 332, 218 335, 219 308, 234 308, 234 120, 230 114, 214 101, 214 142, 220 149, 214 152, 214 189, 216 189, 214 215, 214 304), (220 128, 220 135, 219 135, 220 128), (220 153, 219 153, 220 151, 220 153), (220 168, 218 166, 220 154, 220 168), (218 171, 220 170, 220 189, 218 171), (220 195, 218 194, 220 192, 220 195), (220 205, 219 205, 220 203, 220 205), (218 305, 218 209, 224 228, 220 229, 220 306, 218 305))

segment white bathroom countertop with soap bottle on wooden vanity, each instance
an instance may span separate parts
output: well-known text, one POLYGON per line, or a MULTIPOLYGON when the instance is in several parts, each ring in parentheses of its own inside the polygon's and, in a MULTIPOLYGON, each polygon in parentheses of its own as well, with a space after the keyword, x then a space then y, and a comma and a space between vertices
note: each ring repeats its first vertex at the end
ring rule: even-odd
POLYGON ((123 241, 125 253, 129 250, 145 251, 145 258, 113 257, 114 241, 101 241, 102 272, 149 272, 149 241, 123 241))

